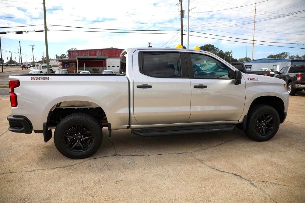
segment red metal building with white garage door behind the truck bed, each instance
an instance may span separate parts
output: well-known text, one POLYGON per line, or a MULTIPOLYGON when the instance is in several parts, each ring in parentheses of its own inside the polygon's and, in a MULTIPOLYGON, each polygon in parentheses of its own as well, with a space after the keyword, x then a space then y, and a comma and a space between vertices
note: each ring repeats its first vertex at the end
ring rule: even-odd
POLYGON ((124 49, 87 49, 68 51, 69 60, 61 60, 62 69, 71 73, 87 70, 91 73, 100 73, 103 70, 119 72, 120 54, 124 49))

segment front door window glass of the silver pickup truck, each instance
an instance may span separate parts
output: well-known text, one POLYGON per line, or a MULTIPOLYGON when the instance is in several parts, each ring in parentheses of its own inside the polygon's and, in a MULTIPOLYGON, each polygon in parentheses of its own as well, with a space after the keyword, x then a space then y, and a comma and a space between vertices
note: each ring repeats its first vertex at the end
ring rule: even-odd
POLYGON ((229 69, 221 62, 202 54, 190 54, 195 78, 228 79, 229 69))

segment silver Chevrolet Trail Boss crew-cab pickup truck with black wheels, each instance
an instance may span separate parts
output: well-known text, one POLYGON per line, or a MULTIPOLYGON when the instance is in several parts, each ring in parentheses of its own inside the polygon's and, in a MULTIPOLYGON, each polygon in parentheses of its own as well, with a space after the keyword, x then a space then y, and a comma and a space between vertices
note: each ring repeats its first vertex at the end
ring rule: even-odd
POLYGON ((93 155, 102 128, 141 136, 230 131, 267 141, 287 116, 278 78, 244 74, 205 51, 128 48, 120 74, 9 76, 9 130, 42 133, 71 159, 93 155), (52 88, 51 88, 52 87, 52 88))

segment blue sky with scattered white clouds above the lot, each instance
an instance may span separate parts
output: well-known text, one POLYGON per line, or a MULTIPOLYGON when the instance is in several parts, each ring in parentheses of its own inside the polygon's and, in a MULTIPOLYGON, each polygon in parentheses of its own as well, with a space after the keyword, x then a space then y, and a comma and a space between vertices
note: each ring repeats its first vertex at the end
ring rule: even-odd
MULTIPOLYGON (((233 58, 251 58, 255 0, 182 1, 183 45, 189 48, 213 44, 232 51, 233 58), (189 30, 189 32, 188 32, 189 30), (189 39, 187 37, 189 33, 189 39)), ((181 44, 179 0, 59 1, 45 0, 48 52, 67 54, 70 48, 171 47, 181 44), (177 5, 178 4, 178 5, 177 5)), ((305 54, 304 0, 257 0, 253 58, 289 52, 305 54), (272 45, 272 46, 270 46, 272 45)), ((23 62, 45 55, 43 0, 0 0, 2 58, 23 62), (23 34, 16 34, 23 31, 23 34), (24 32, 28 31, 28 32, 24 32), (16 60, 18 61, 18 60, 16 60)))

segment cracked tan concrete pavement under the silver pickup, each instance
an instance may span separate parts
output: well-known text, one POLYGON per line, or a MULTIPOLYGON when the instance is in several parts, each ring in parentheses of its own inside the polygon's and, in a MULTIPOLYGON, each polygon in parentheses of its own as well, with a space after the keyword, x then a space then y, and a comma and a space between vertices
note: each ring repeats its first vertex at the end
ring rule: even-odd
POLYGON ((9 98, 0 97, 0 202, 305 202, 304 98, 290 96, 267 142, 238 129, 109 138, 104 128, 99 151, 73 160, 42 134, 8 131, 9 98))

